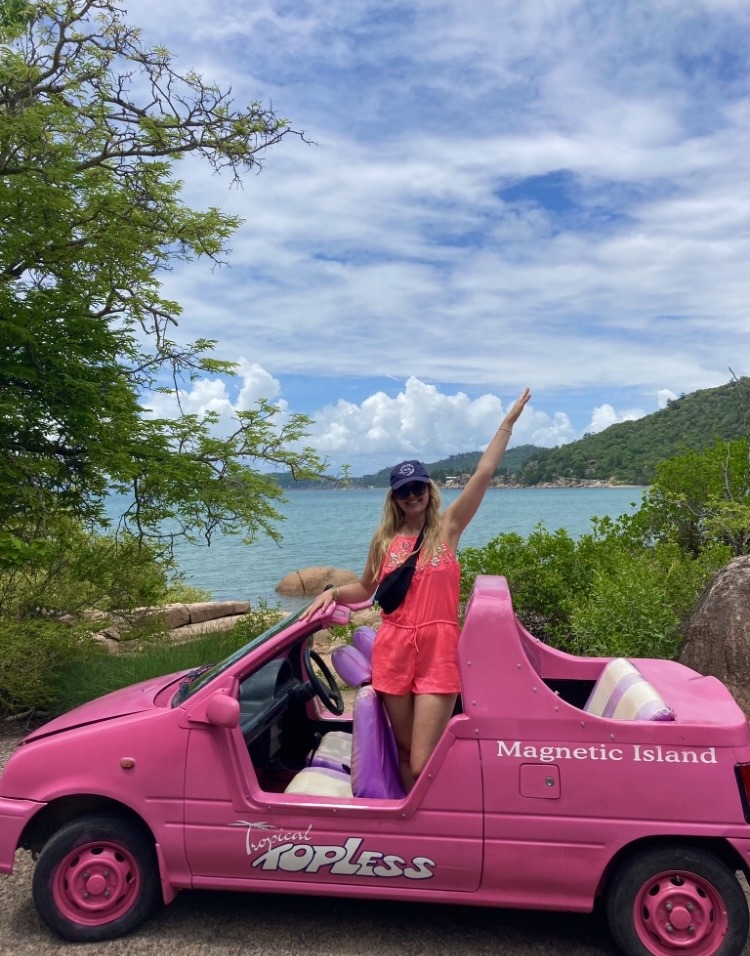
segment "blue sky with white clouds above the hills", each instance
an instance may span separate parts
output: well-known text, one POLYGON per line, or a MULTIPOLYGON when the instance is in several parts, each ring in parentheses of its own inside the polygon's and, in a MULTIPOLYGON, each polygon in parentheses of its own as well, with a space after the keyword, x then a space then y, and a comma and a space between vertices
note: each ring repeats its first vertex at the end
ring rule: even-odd
MULTIPOLYGON (((364 474, 558 445, 750 374, 746 0, 129 0, 146 43, 304 130, 197 208, 227 266, 165 277, 177 337, 364 474)), ((166 404, 157 409, 169 411, 166 404)))

